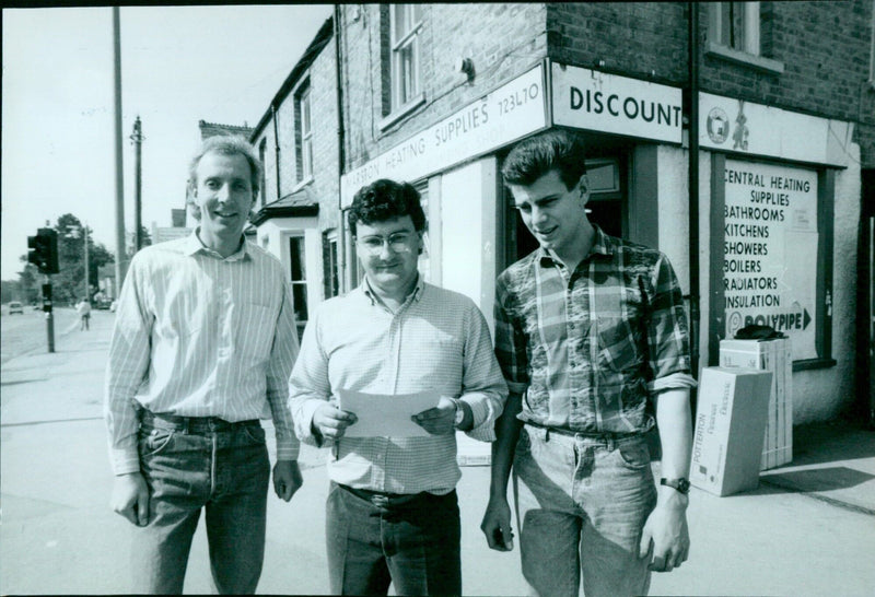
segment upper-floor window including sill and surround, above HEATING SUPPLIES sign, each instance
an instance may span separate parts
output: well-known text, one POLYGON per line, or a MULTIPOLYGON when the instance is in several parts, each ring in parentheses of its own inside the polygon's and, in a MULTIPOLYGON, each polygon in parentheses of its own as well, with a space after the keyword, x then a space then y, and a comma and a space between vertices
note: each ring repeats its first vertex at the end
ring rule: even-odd
MULTIPOLYGON (((388 45, 383 52, 388 69, 384 69, 384 84, 388 90, 384 103, 385 128, 409 114, 424 99, 422 92, 422 61, 420 33, 422 32, 422 4, 384 5, 384 26, 388 31, 388 45), (387 14, 386 14, 387 13, 387 14)), ((385 31, 385 30, 384 30, 385 31)))

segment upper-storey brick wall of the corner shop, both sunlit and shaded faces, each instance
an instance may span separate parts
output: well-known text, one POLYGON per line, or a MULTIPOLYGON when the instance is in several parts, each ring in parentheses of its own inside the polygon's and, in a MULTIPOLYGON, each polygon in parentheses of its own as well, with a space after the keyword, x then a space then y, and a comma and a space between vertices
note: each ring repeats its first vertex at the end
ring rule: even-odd
MULTIPOLYGON (((875 92, 867 78, 872 2, 761 2, 762 55, 773 74, 705 54, 702 91, 858 122, 864 167, 875 167, 875 92)), ((686 2, 423 4, 420 33, 425 106, 381 130, 388 101, 388 10, 341 7, 347 164, 352 169, 520 74, 539 58, 652 80, 688 83, 686 2), (455 70, 471 58, 468 83, 455 70)))

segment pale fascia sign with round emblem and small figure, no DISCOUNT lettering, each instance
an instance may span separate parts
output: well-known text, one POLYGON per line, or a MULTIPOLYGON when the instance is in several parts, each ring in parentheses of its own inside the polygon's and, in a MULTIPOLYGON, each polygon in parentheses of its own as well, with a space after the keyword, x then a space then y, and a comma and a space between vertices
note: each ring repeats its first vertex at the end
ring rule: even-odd
POLYGON ((850 122, 700 93, 699 131, 702 148, 847 167, 853 128, 850 122))

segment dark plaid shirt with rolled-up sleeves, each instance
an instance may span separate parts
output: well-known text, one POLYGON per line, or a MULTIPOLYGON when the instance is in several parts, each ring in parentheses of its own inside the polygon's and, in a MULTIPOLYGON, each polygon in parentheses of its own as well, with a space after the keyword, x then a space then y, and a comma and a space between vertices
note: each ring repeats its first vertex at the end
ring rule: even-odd
POLYGON ((658 250, 606 235, 569 278, 542 247, 495 284, 495 354, 520 419, 575 432, 653 426, 649 396, 693 387, 675 272, 658 250))

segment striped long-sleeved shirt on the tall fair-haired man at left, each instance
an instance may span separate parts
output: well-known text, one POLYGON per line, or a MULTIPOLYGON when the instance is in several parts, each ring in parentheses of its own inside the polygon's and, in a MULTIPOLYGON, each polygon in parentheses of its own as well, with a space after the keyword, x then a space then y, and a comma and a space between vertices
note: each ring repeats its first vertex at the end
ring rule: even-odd
POLYGON ((231 422, 273 419, 277 457, 298 457, 288 379, 298 355, 279 260, 244 242, 228 258, 192 233, 140 250, 118 300, 104 414, 116 475, 140 470, 139 409, 231 422))

